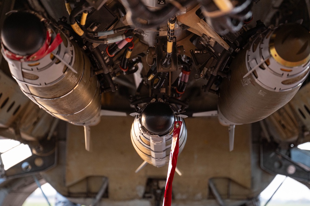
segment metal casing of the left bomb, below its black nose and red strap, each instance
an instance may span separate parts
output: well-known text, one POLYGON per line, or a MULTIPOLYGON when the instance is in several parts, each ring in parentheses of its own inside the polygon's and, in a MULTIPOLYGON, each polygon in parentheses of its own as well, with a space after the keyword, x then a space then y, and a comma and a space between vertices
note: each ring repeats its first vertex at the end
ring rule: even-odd
MULTIPOLYGON (((53 31, 52 39, 55 35, 53 31)), ((96 124, 101 109, 97 77, 80 47, 60 35, 63 42, 38 61, 5 57, 11 74, 24 94, 49 114, 75 125, 96 124)))

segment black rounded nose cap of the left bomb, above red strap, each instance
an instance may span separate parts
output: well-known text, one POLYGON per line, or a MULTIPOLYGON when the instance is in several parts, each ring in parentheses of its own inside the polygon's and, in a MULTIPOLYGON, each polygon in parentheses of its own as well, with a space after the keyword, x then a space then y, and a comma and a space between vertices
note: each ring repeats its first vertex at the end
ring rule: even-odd
POLYGON ((15 12, 4 20, 1 40, 14 54, 34 54, 42 47, 45 39, 46 28, 34 14, 15 12))

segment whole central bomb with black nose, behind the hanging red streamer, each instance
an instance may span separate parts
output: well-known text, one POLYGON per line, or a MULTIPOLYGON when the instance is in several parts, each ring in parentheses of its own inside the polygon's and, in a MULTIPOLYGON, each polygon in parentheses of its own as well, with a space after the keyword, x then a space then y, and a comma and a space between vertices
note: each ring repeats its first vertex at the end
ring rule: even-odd
POLYGON ((177 109, 163 101, 151 101, 135 115, 131 127, 131 142, 139 156, 149 164, 161 167, 169 162, 175 121, 182 121, 179 134, 179 153, 187 139, 183 118, 177 109))

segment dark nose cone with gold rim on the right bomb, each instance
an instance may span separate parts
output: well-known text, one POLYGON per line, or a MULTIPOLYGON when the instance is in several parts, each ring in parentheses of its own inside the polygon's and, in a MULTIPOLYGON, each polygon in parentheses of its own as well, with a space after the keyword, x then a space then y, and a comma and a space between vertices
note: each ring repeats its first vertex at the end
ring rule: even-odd
POLYGON ((269 43, 273 58, 286 67, 297 67, 310 60, 310 33, 299 24, 279 26, 269 43))

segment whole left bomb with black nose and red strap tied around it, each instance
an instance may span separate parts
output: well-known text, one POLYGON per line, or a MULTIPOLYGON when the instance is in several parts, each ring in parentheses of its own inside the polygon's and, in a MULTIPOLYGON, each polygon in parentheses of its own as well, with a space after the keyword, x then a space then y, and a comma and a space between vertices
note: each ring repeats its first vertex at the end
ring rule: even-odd
POLYGON ((75 125, 100 119, 100 85, 74 41, 33 11, 12 12, 1 30, 2 54, 33 102, 75 125))

